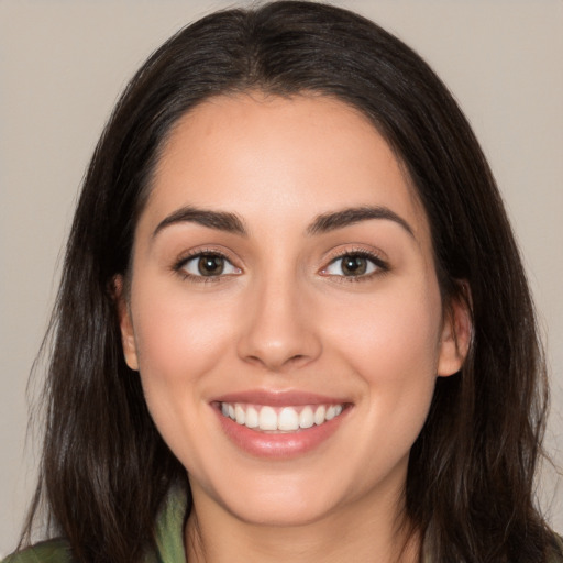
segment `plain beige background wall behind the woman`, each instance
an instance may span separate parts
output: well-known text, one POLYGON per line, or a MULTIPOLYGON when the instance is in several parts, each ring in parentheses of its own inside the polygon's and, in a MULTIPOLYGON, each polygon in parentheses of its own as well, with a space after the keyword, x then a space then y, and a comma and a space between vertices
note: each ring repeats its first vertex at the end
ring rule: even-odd
MULTIPOLYGON (((517 230, 553 375, 549 446, 563 466, 563 1, 347 0, 419 51, 490 158, 517 230)), ((101 126, 143 59, 220 0, 0 0, 0 553, 32 489, 25 383, 59 249, 101 126)), ((563 484, 543 474, 563 531, 563 484)), ((551 509, 550 509, 551 506, 551 509)))

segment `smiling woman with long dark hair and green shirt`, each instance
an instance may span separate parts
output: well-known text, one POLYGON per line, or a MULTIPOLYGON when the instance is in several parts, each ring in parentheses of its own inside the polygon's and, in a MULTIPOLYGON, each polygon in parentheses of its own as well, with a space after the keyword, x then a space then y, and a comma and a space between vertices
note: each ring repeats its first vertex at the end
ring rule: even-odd
POLYGON ((355 14, 217 13, 148 59, 53 334, 29 529, 45 503, 63 539, 10 561, 562 560, 494 179, 435 75, 355 14))

